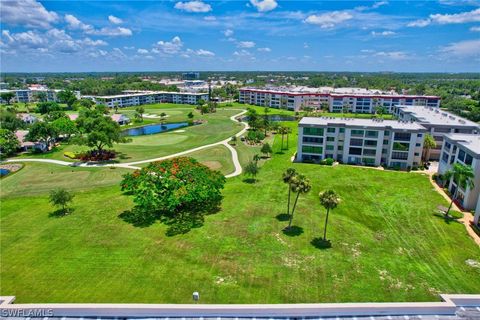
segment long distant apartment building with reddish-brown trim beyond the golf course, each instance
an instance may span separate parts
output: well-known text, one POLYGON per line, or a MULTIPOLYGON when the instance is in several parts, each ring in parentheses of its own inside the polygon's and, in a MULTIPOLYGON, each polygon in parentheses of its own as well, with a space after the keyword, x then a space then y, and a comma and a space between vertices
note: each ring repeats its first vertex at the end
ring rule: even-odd
POLYGON ((377 107, 392 112, 395 105, 439 107, 440 97, 402 95, 361 88, 241 88, 239 102, 299 111, 305 107, 330 112, 374 113, 377 107))

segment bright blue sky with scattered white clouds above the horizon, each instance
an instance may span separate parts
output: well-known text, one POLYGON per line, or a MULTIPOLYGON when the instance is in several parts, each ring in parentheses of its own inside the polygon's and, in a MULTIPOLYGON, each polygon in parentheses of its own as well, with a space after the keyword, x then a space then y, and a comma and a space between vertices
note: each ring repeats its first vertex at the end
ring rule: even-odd
POLYGON ((480 71, 480 0, 1 0, 1 71, 480 71))

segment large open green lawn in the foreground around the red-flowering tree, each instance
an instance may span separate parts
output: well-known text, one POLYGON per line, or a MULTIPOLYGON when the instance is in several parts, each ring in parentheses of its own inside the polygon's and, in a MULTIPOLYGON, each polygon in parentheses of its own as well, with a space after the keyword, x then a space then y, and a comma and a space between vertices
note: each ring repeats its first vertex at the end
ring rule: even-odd
POLYGON ((133 203, 120 191, 118 169, 90 169, 87 178, 62 172, 45 185, 51 169, 27 164, 1 182, 0 294, 19 303, 190 303, 199 291, 202 303, 302 303, 479 293, 480 269, 466 260, 479 261, 480 248, 463 225, 435 215, 446 201, 426 176, 291 164, 295 139, 282 154, 277 136, 278 153, 257 183, 228 179, 221 211, 173 237, 161 223, 141 228, 119 218, 133 203), (289 166, 313 185, 299 198, 295 236, 277 219, 286 211, 281 175, 289 166), (72 214, 50 216, 48 185, 74 191, 72 214), (330 216, 332 247, 318 249, 311 241, 323 232, 325 210, 317 195, 327 188, 342 202, 330 216))

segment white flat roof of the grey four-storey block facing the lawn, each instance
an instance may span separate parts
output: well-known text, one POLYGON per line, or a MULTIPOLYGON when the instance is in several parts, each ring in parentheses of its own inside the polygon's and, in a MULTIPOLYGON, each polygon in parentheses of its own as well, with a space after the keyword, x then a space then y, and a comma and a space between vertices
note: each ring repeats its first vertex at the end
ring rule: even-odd
POLYGON ((299 125, 317 125, 334 126, 344 125, 346 127, 368 127, 378 129, 398 129, 398 130, 420 130, 425 131, 418 122, 382 120, 382 119, 357 119, 357 118, 337 118, 337 117, 303 117, 299 125))

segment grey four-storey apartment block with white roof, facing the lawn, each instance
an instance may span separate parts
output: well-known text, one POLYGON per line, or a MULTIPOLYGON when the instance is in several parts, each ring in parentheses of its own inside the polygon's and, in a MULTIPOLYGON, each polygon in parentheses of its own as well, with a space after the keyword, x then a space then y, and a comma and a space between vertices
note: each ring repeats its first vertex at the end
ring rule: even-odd
POLYGON ((421 163, 425 132, 411 121, 304 117, 296 160, 413 168, 421 163))

